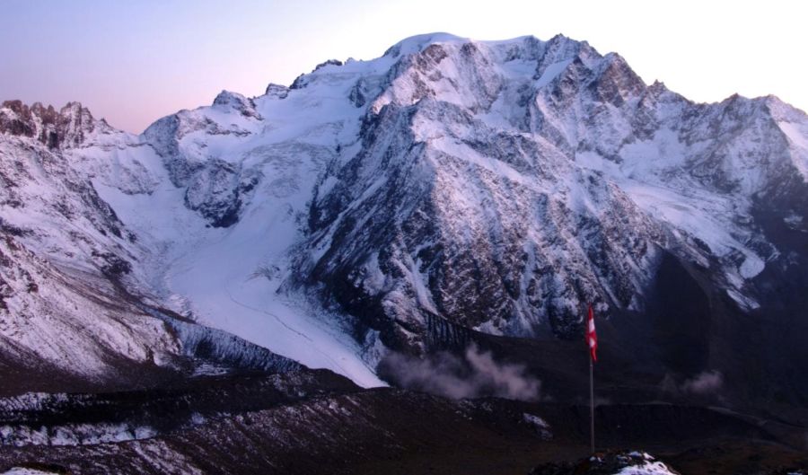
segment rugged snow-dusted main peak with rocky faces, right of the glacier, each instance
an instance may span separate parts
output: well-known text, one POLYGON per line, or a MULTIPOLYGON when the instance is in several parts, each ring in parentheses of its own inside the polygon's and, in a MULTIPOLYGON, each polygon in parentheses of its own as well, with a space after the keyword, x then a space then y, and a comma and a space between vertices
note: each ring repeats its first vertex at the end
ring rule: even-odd
POLYGON ((804 193, 801 112, 693 104, 563 37, 416 38, 382 59, 382 85, 356 83, 375 98, 361 145, 315 190, 303 252, 303 273, 340 302, 375 301, 402 333, 423 333, 426 311, 569 335, 587 302, 642 310, 669 251, 758 306, 750 279, 778 251, 749 216, 784 185, 804 193))

